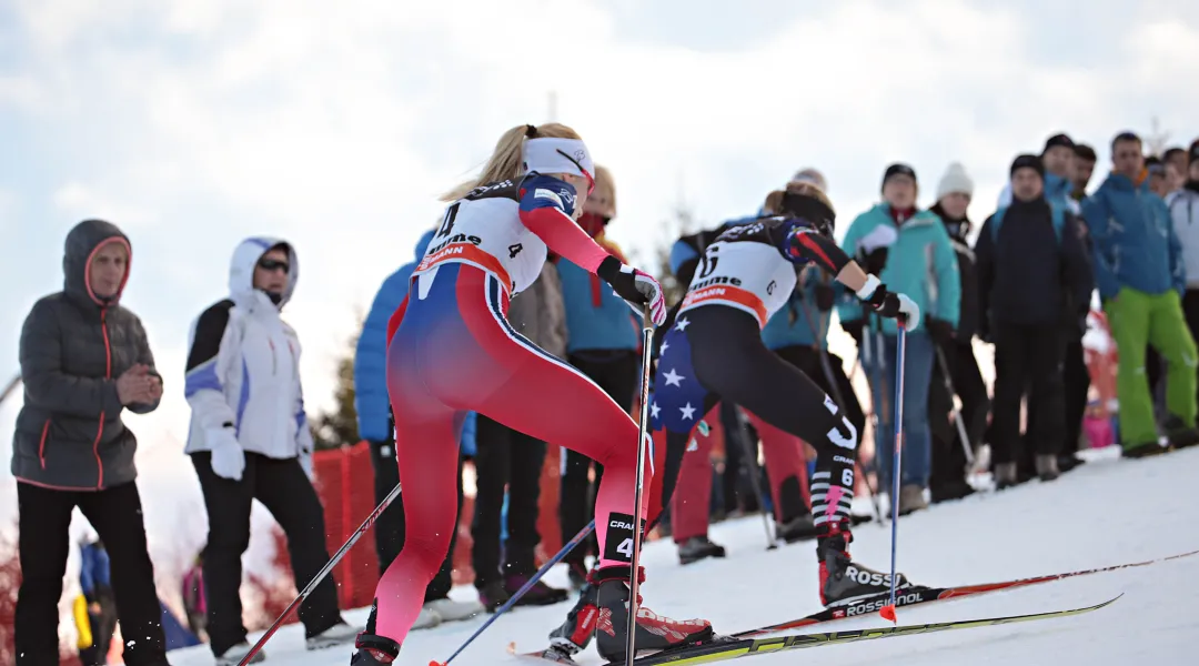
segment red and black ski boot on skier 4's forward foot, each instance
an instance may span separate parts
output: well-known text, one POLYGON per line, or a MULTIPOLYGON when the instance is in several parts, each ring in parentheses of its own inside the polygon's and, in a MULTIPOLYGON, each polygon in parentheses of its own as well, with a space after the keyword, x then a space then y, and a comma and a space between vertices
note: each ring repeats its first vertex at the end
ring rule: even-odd
MULTIPOLYGON (((596 652, 607 661, 623 661, 628 635, 628 567, 608 567, 596 571, 596 595, 598 613, 596 618, 596 652)), ((639 569, 640 581, 645 580, 645 569, 639 569)), ((634 644, 637 653, 659 652, 677 646, 711 641, 715 636, 712 624, 706 619, 677 620, 662 617, 640 605, 638 595, 637 619, 634 624, 634 644)))

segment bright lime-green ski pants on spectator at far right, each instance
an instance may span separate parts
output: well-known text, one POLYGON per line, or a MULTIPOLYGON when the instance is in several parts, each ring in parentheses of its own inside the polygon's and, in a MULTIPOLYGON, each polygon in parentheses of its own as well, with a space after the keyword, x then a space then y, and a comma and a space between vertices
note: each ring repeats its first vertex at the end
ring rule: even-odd
POLYGON ((1121 287, 1103 304, 1120 356, 1116 396, 1120 399, 1120 432, 1123 446, 1156 442, 1153 400, 1145 376, 1145 345, 1169 364, 1165 407, 1182 423, 1195 425, 1195 341, 1182 316, 1182 299, 1173 289, 1149 295, 1121 287))

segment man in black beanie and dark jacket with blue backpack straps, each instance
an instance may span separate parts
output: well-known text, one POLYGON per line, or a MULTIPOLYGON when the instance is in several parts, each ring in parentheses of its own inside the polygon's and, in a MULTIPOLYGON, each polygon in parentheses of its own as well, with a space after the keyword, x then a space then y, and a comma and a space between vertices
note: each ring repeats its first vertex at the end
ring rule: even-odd
POLYGON ((1046 168, 1022 155, 1011 168, 1012 202, 987 218, 975 246, 983 340, 995 344, 990 443, 1000 489, 1017 483, 1020 401, 1040 407, 1030 422, 1042 482, 1059 476, 1066 431, 1064 362, 1071 303, 1090 299, 1092 277, 1078 218, 1046 199, 1046 168))

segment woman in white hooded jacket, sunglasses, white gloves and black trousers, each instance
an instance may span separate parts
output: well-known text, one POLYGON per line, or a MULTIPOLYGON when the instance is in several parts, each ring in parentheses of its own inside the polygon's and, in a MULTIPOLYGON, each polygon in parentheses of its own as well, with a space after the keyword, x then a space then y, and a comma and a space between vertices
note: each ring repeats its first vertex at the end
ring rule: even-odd
MULTIPOLYGON (((312 432, 300 385, 300 340, 279 317, 299 278, 295 250, 278 238, 247 238, 234 250, 229 298, 193 322, 185 392, 191 454, 209 514, 204 559, 207 632, 218 665, 248 652, 241 620, 241 555, 254 500, 288 538, 296 588, 329 562, 325 520, 312 486, 312 432)), ((308 649, 354 640, 332 576, 300 606, 308 649)), ((259 653, 253 661, 265 655, 259 653)))

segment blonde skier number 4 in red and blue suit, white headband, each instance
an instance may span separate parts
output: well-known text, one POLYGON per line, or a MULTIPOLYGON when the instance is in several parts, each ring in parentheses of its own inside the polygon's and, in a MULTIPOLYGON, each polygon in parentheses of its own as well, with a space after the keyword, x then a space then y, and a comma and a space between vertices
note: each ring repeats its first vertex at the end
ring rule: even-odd
MULTIPOLYGON (((658 283, 608 254, 573 219, 594 174, 591 155, 574 131, 558 123, 519 126, 500 138, 477 180, 445 196, 452 202, 441 228, 388 327, 387 387, 408 534, 375 589, 353 664, 392 662, 421 610, 424 587, 456 528, 458 430, 468 411, 604 466, 595 510, 603 611, 598 648, 607 659, 623 659, 633 529, 645 515, 644 502, 633 507, 638 424, 505 317, 512 293, 540 274, 548 247, 637 308, 647 304, 656 325, 665 320, 658 283)), ((674 620, 644 607, 635 631, 645 649, 712 636, 706 620, 674 620)))

